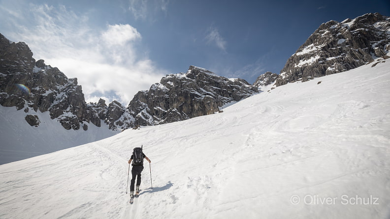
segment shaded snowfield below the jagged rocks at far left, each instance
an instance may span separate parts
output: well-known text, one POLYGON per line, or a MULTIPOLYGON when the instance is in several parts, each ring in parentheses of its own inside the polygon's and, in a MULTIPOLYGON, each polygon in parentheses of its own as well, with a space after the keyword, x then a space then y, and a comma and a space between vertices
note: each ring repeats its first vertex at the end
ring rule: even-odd
POLYGON ((0 105, 0 164, 78 146, 118 133, 109 130, 103 121, 103 127, 100 128, 87 123, 87 131, 82 128, 66 130, 57 119, 50 119, 49 111, 30 110, 29 114, 39 117, 41 123, 38 127, 32 127, 26 122, 27 113, 23 109, 0 105))

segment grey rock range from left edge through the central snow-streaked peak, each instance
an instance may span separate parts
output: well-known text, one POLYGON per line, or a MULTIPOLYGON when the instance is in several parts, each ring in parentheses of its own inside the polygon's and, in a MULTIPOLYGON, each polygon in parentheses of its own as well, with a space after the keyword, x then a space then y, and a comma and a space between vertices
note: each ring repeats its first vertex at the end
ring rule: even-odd
POLYGON ((257 93, 258 88, 242 79, 229 80, 206 69, 190 66, 187 73, 171 74, 139 91, 127 108, 100 99, 87 104, 77 79, 68 79, 44 60, 35 61, 24 43, 10 42, 0 34, 0 104, 26 112, 26 124, 40 126, 35 113, 49 111, 67 129, 88 130, 101 126, 120 131, 181 121, 218 112, 224 105, 257 93))

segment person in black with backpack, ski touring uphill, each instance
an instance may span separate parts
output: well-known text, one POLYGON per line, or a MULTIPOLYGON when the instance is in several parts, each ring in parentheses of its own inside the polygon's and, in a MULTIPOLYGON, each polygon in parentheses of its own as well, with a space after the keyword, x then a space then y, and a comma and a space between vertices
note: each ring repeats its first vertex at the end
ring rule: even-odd
POLYGON ((138 197, 139 195, 139 186, 141 185, 141 172, 143 170, 143 159, 146 159, 149 164, 151 161, 148 157, 142 152, 142 147, 136 147, 133 149, 133 153, 131 155, 131 158, 129 160, 129 164, 132 162, 132 168, 131 168, 131 181, 130 181, 130 198, 132 199, 134 197, 134 184, 135 184, 135 178, 137 178, 137 183, 135 184, 135 196, 138 197))

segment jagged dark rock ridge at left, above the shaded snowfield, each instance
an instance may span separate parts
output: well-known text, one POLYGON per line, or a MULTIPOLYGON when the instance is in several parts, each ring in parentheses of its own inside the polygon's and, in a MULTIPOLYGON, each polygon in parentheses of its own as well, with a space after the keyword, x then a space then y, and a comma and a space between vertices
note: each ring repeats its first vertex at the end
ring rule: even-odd
MULTIPOLYGON (((68 79, 56 67, 46 65, 44 60, 35 61, 30 48, 24 42, 14 43, 0 34, 0 104, 4 107, 24 109, 26 121, 39 126, 39 118, 31 115, 38 109, 49 111, 51 119, 58 120, 65 129, 88 129, 88 123, 100 127, 117 119, 119 103, 112 103, 110 112, 97 111, 87 105, 77 79, 68 79), (19 86, 18 86, 19 85, 19 86), (24 90, 21 89, 25 88, 24 90)), ((111 104, 110 104, 111 105, 111 104)), ((119 110, 120 111, 120 110, 119 110)))

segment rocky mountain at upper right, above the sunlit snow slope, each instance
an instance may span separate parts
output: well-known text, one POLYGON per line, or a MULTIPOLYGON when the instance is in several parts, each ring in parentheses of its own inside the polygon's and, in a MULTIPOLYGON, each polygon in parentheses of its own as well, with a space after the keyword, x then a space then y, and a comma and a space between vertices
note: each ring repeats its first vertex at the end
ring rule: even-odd
POLYGON ((390 52, 390 17, 365 14, 322 24, 288 60, 276 86, 357 68, 390 52))

